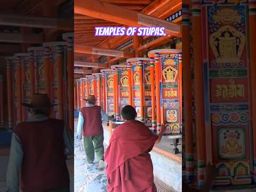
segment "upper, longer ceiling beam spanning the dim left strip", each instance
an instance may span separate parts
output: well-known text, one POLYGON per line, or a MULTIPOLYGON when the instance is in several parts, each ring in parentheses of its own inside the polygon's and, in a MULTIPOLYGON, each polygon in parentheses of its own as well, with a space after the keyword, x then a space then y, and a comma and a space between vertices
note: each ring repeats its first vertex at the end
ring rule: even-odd
POLYGON ((6 26, 73 30, 73 23, 73 19, 68 20, 44 17, 27 17, 23 15, 0 14, 0 25, 6 26))

